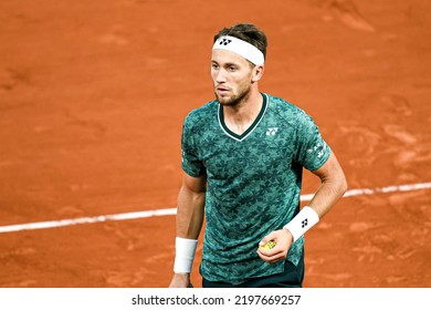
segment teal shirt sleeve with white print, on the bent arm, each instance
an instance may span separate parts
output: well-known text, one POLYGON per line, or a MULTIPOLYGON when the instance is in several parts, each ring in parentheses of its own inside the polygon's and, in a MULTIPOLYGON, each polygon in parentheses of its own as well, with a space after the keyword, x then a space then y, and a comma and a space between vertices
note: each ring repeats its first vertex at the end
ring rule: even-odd
POLYGON ((308 170, 316 170, 326 163, 332 151, 309 115, 301 113, 297 126, 296 162, 308 170))

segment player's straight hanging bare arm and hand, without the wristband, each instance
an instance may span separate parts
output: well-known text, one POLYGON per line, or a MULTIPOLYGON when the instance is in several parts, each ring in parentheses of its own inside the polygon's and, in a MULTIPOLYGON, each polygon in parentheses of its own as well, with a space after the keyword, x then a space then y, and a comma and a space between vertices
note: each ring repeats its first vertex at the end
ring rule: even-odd
MULTIPOLYGON (((177 237, 198 239, 203 224, 207 176, 185 174, 177 204, 177 237)), ((170 288, 188 287, 189 273, 175 273, 170 288)))

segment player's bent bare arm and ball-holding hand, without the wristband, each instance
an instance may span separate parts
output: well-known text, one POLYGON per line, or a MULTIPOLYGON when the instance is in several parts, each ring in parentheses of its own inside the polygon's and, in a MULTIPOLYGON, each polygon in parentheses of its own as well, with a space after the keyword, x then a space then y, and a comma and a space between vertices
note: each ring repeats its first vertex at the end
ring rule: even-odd
MULTIPOLYGON (((329 155, 329 158, 320 168, 312 173, 320 178, 320 186, 308 206, 322 218, 346 193, 347 182, 334 153, 329 155)), ((284 259, 293 242, 292 234, 287 229, 275 230, 265 236, 262 241, 266 244, 270 240, 276 240, 277 246, 267 251, 259 249, 257 255, 269 262, 284 259)))

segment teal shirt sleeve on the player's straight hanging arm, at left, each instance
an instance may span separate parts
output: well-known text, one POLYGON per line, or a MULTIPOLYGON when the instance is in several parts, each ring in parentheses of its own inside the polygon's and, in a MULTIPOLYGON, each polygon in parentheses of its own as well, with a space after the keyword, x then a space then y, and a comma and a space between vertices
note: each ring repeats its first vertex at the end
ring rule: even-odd
POLYGON ((181 167, 190 176, 198 177, 204 173, 202 161, 199 159, 196 145, 196 132, 190 116, 186 117, 181 135, 181 167))

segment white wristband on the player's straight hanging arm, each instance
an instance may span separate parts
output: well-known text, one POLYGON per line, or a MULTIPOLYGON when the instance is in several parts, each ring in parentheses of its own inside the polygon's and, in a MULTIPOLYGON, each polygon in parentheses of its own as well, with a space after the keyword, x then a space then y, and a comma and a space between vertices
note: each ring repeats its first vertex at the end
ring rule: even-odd
POLYGON ((190 273, 191 267, 193 266, 193 259, 196 254, 196 248, 198 247, 198 240, 196 239, 186 239, 177 237, 175 239, 175 264, 174 272, 175 273, 190 273))

